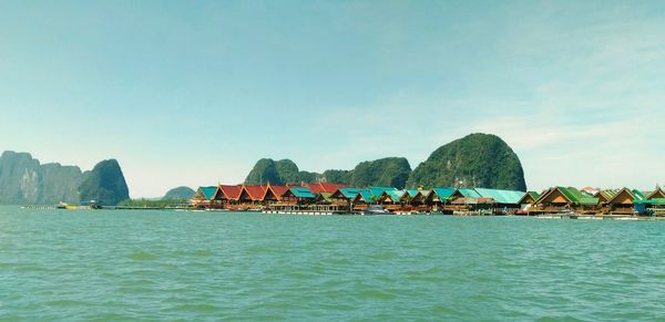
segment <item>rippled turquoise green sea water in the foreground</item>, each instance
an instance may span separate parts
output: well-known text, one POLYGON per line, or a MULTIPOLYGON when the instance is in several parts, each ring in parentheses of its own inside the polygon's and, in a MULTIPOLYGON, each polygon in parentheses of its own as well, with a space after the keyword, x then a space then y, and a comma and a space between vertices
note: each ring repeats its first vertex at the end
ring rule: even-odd
POLYGON ((663 221, 0 208, 0 320, 663 316, 663 221))

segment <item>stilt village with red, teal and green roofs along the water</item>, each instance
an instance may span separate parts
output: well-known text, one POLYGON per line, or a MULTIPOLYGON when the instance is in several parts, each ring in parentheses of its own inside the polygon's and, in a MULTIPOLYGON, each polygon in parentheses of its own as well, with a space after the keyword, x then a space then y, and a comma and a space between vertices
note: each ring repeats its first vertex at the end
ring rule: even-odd
POLYGON ((203 211, 294 215, 458 215, 556 218, 665 216, 665 190, 552 187, 541 193, 489 188, 398 189, 337 184, 200 187, 187 205, 203 211))

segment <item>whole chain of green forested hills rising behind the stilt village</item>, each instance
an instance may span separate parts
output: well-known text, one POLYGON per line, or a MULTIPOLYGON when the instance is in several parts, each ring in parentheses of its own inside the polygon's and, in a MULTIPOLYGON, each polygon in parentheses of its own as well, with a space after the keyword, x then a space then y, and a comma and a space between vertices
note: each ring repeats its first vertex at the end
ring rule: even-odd
POLYGON ((245 184, 267 183, 329 183, 398 189, 424 186, 526 190, 524 170, 518 155, 499 136, 481 133, 439 147, 413 170, 403 157, 362 162, 350 170, 330 169, 323 174, 299 170, 290 159, 263 158, 249 172, 245 184))

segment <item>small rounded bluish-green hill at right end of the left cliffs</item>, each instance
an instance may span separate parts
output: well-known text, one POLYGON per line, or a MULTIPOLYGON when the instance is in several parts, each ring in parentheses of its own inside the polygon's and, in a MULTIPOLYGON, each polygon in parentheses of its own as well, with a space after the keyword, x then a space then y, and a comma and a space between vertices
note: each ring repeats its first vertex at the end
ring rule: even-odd
POLYGON ((81 200, 95 200, 102 206, 114 206, 129 199, 130 193, 122 169, 115 159, 99 163, 85 174, 81 184, 81 200))

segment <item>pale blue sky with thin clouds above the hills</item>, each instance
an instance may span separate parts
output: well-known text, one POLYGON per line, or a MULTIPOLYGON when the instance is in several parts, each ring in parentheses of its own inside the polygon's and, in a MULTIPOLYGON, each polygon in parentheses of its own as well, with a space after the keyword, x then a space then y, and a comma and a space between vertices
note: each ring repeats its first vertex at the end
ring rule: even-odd
POLYGON ((132 197, 478 132, 530 189, 665 184, 665 2, 0 1, 0 150, 132 197))

